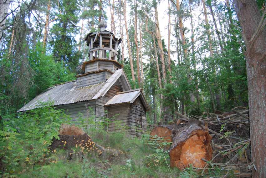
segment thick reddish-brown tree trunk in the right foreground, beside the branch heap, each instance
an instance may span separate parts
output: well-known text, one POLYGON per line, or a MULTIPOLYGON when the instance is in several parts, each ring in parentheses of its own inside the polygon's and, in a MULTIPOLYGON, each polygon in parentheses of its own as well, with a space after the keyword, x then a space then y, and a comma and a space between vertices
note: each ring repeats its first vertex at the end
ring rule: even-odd
POLYGON ((256 1, 234 0, 234 5, 246 44, 250 141, 256 168, 252 177, 266 177, 266 9, 261 16, 256 1))

